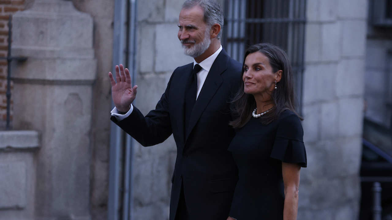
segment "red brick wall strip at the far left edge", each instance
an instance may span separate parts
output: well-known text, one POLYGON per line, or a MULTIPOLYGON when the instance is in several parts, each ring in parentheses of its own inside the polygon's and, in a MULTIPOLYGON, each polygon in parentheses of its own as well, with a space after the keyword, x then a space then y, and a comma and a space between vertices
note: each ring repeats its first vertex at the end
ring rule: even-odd
MULTIPOLYGON (((0 57, 6 57, 8 52, 8 17, 16 11, 22 11, 23 9, 24 0, 0 0, 0 57)), ((0 121, 5 121, 7 117, 7 97, 5 96, 5 92, 7 92, 7 61, 0 60, 0 121)), ((0 128, 0 130, 2 129, 0 128)))

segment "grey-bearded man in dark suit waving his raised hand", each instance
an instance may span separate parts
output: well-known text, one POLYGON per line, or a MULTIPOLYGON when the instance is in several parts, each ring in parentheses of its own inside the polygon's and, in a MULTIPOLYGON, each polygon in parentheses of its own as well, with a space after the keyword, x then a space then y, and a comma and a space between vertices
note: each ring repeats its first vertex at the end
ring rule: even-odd
POLYGON ((170 220, 225 220, 238 171, 227 147, 230 98, 241 82, 241 64, 220 43, 223 13, 214 0, 187 0, 178 38, 194 62, 174 70, 165 93, 146 116, 131 103, 136 97, 128 69, 109 72, 116 107, 112 121, 143 146, 165 141, 177 145, 172 176, 170 220))

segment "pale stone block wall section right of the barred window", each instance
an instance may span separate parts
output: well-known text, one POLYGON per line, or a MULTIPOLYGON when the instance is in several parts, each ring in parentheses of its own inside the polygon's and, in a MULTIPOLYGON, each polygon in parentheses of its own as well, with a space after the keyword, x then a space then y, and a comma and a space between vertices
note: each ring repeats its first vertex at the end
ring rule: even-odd
POLYGON ((367 7, 307 1, 298 219, 358 219, 367 7))

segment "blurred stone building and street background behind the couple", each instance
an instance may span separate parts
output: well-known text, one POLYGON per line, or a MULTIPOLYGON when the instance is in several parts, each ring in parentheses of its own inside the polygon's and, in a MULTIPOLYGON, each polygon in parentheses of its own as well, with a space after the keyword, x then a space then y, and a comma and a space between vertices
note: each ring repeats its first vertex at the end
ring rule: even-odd
MULTIPOLYGON (((304 117, 298 219, 392 220, 392 0, 220 0, 223 48, 282 47, 304 117)), ((183 0, 0 0, 0 220, 169 219, 176 146, 111 121, 114 65, 147 114, 192 59, 183 0), (12 19, 12 20, 11 20, 12 19)))

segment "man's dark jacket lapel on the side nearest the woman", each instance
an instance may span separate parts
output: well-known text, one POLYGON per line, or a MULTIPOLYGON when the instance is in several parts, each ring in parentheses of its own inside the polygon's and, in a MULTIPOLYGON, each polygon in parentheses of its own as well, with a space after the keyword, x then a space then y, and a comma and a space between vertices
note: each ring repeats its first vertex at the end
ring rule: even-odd
POLYGON ((208 72, 207 78, 205 79, 204 85, 201 88, 200 94, 193 107, 191 118, 189 119, 190 129, 188 129, 188 132, 185 134, 185 141, 188 139, 189 134, 192 132, 193 127, 200 119, 200 116, 204 112, 208 103, 211 101, 212 97, 214 97, 216 91, 223 83, 221 74, 227 69, 228 61, 229 56, 225 50, 222 49, 212 64, 210 72, 208 72))

